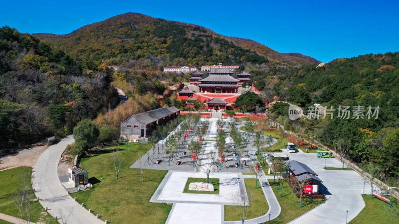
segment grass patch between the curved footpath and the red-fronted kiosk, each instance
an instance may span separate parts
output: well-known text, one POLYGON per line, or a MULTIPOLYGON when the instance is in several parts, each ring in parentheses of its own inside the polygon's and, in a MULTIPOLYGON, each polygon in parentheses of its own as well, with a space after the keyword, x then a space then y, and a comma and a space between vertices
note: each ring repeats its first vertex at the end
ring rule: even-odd
POLYGON ((305 214, 306 212, 320 205, 325 200, 325 199, 303 199, 302 208, 300 208, 299 205, 300 200, 299 198, 296 197, 291 187, 288 186, 287 181, 283 182, 282 186, 283 197, 280 197, 280 188, 276 190, 277 182, 273 183, 273 180, 268 180, 268 181, 281 207, 281 214, 276 219, 272 220, 271 224, 289 223, 295 218, 305 214))

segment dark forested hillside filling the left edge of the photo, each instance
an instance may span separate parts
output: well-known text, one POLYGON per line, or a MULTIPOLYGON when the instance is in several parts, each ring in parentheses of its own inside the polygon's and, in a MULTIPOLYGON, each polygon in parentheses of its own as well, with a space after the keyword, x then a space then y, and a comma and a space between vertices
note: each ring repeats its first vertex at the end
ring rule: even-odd
POLYGON ((105 65, 83 65, 57 47, 0 28, 0 148, 69 134, 118 103, 105 65))

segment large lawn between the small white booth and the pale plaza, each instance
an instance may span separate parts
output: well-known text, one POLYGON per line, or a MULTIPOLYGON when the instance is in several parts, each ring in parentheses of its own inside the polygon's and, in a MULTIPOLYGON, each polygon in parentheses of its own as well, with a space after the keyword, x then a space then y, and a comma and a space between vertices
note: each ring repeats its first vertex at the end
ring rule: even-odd
MULTIPOLYGON (((130 142, 127 151, 126 143, 121 144, 119 153, 124 163, 118 179, 110 149, 82 158, 81 167, 89 171, 89 178, 101 182, 88 191, 73 193, 72 197, 76 197, 79 204, 84 203, 86 209, 92 209, 93 214, 99 214, 102 220, 113 224, 165 223, 172 205, 150 203, 150 198, 167 171, 145 170, 144 181, 141 181, 140 169, 129 168, 138 159, 138 152, 144 154, 149 148, 150 144, 130 142)), ((89 182, 93 183, 91 179, 89 182)))

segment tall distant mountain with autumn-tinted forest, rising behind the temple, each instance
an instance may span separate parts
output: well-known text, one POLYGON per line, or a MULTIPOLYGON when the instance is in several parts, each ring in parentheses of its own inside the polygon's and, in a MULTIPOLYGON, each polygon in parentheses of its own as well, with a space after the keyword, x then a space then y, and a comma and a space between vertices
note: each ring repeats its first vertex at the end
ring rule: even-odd
POLYGON ((279 54, 252 40, 226 37, 198 25, 139 13, 117 15, 66 35, 34 36, 74 55, 87 67, 103 61, 107 65, 145 61, 131 65, 140 64, 140 69, 149 70, 220 62, 241 66, 264 64, 269 68, 319 63, 300 54, 279 54))

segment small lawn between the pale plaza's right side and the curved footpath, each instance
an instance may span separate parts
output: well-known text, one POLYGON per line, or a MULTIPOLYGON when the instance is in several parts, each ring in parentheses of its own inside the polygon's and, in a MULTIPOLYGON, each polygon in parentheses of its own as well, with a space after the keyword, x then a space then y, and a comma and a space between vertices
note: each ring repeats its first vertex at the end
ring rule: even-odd
MULTIPOLYGON (((265 195, 258 181, 258 189, 255 189, 255 179, 244 179, 245 189, 249 197, 249 210, 246 220, 264 215, 269 210, 265 195)), ((224 221, 239 221, 237 206, 224 206, 224 221)))

